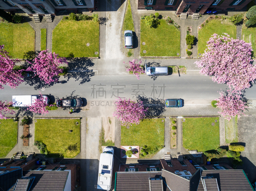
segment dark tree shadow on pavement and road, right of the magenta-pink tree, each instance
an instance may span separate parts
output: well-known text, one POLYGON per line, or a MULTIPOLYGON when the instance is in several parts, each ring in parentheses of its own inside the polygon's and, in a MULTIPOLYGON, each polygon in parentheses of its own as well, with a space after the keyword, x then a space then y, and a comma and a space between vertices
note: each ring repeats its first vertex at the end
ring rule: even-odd
POLYGON ((71 77, 75 78, 76 81, 80 81, 80 84, 91 81, 91 77, 95 75, 93 70, 89 67, 94 66, 92 59, 74 59, 68 60, 68 73, 64 76, 69 80, 71 77), (70 70, 72 69, 72 70, 70 70))

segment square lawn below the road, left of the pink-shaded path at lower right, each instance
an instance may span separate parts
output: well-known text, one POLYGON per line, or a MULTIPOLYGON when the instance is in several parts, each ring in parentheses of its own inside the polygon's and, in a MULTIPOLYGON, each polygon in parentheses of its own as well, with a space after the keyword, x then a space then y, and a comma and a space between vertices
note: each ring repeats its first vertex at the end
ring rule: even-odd
POLYGON ((218 117, 185 118, 185 120, 182 123, 183 147, 185 149, 197 150, 198 152, 217 149, 220 145, 218 117), (212 122, 215 123, 214 126, 212 126, 212 122))

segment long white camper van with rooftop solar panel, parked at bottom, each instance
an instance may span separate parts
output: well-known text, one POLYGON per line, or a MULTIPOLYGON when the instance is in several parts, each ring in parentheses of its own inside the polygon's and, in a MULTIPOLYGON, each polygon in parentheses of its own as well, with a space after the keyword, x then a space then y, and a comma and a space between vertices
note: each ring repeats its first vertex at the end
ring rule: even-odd
POLYGON ((114 149, 105 147, 100 154, 98 189, 110 190, 114 165, 114 149))

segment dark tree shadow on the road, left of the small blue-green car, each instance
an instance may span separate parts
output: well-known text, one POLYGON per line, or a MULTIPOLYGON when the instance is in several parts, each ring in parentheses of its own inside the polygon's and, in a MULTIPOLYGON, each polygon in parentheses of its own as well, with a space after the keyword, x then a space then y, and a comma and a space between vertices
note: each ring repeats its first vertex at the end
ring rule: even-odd
POLYGON ((144 107, 148 107, 146 117, 161 116, 165 112, 164 99, 147 98, 146 96, 137 96, 137 102, 142 101, 144 107))

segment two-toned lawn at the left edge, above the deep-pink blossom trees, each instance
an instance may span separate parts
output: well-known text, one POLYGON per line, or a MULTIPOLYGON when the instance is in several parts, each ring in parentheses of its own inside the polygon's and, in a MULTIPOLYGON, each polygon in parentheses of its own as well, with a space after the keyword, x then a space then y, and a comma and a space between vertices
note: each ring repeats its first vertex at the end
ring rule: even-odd
POLYGON ((28 23, 0 23, 0 44, 13 58, 35 55, 35 31, 28 23))

